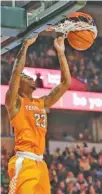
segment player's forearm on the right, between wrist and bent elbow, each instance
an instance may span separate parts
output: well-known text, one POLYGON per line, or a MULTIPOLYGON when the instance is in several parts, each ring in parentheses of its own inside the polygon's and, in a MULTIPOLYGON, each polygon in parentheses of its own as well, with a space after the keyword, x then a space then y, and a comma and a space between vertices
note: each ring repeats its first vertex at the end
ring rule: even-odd
POLYGON ((58 59, 59 59, 60 69, 61 69, 61 82, 64 82, 68 87, 70 87, 71 74, 70 74, 70 70, 69 70, 69 66, 68 66, 65 54, 58 53, 58 59))

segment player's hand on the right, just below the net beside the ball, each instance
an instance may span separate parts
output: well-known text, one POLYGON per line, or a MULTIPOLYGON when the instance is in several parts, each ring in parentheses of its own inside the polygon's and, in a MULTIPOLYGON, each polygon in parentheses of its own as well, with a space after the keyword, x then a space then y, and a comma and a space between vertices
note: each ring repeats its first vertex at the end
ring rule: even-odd
POLYGON ((54 40, 54 46, 58 53, 64 53, 65 45, 64 45, 64 37, 59 37, 54 40))

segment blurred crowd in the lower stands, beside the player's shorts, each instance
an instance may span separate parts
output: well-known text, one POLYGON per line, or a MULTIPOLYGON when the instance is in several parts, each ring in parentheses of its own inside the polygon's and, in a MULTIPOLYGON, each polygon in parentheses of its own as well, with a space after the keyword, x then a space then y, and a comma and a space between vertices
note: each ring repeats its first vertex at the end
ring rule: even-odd
MULTIPOLYGON (((2 147, 1 194, 7 194, 9 178, 7 163, 10 153, 2 147)), ((45 160, 49 169, 51 194, 102 194, 102 151, 89 149, 86 143, 59 148, 53 155, 47 150, 45 160)))

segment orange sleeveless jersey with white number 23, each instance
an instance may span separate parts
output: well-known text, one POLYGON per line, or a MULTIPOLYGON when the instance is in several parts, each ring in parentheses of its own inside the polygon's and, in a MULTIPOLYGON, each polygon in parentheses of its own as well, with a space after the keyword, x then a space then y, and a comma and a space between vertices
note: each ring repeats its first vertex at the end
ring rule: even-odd
POLYGON ((15 151, 43 154, 47 129, 47 115, 43 99, 21 98, 21 108, 11 120, 15 133, 15 151))

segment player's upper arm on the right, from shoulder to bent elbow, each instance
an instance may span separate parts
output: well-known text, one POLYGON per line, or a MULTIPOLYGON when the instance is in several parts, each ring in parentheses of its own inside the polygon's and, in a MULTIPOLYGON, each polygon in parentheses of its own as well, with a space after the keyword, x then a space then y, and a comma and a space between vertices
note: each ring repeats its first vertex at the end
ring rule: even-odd
POLYGON ((68 84, 62 82, 56 88, 54 88, 48 96, 44 96, 45 108, 51 107, 53 104, 55 104, 67 90, 68 84))

